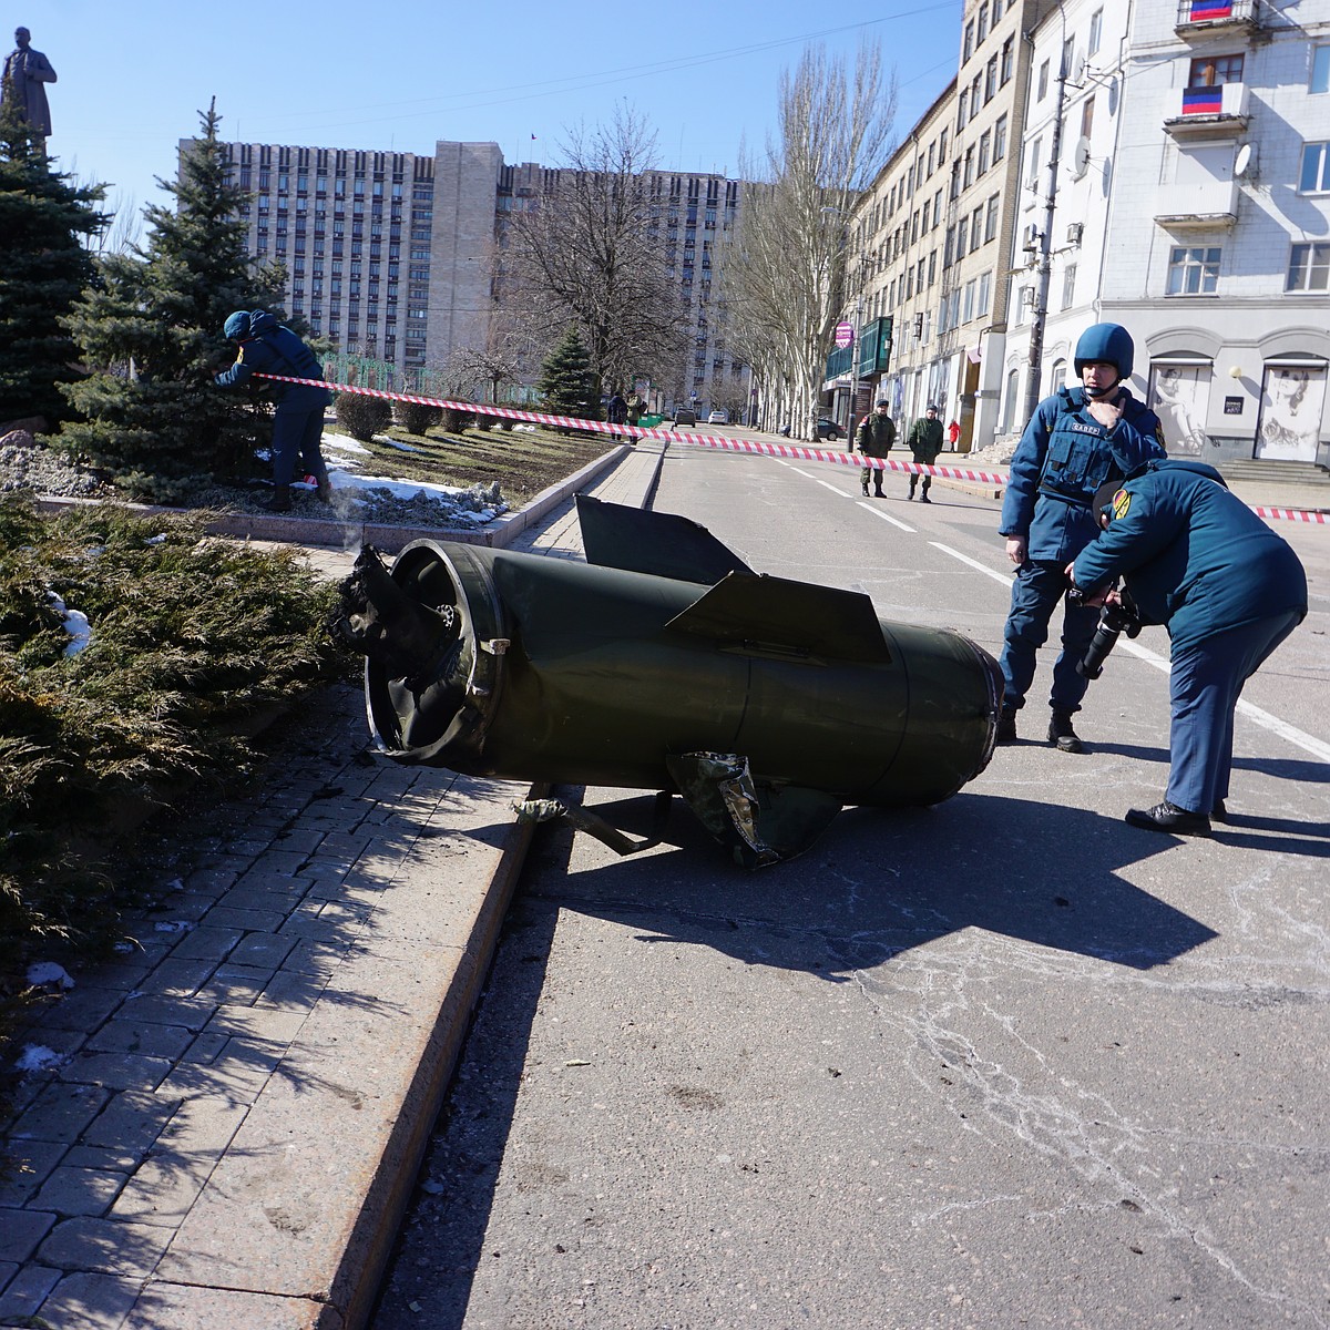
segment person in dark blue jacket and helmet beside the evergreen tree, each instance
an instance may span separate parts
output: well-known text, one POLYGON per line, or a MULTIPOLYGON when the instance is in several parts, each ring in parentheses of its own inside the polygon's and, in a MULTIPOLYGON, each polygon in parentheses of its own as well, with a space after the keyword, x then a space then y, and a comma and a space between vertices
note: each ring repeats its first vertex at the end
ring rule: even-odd
MULTIPOLYGON (((230 342, 239 343, 235 363, 213 382, 219 388, 245 383, 254 374, 281 374, 293 379, 322 379, 323 366, 314 352, 266 310, 237 310, 222 329, 230 342)), ((271 380, 266 380, 271 382, 271 380)), ((318 496, 331 503, 332 485, 319 442, 323 438, 323 411, 332 394, 307 383, 273 383, 278 394, 273 418, 273 499, 270 512, 289 512, 295 463, 302 475, 318 481, 318 496)))

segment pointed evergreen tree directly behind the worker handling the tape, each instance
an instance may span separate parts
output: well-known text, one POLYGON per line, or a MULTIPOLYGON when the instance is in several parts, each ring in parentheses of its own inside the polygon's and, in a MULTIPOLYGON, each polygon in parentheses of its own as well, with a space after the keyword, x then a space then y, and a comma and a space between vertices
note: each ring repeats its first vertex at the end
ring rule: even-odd
POLYGON ((65 424, 59 443, 137 497, 180 499, 202 476, 254 475, 269 435, 258 398, 211 378, 233 359, 227 314, 282 317, 283 273, 247 258, 239 214, 250 194, 230 181, 215 102, 200 118, 180 180, 157 181, 176 210, 144 210, 146 245, 102 259, 100 287, 66 321, 93 372, 66 388, 84 420, 65 424))

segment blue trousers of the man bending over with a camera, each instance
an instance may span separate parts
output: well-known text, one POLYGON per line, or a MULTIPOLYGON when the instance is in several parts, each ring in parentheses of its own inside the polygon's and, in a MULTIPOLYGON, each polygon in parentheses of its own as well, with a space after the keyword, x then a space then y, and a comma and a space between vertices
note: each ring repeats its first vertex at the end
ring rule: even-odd
POLYGON ((1204 637, 1173 653, 1169 668, 1169 803, 1205 813, 1229 797, 1233 713, 1242 685, 1302 620, 1290 609, 1204 637))

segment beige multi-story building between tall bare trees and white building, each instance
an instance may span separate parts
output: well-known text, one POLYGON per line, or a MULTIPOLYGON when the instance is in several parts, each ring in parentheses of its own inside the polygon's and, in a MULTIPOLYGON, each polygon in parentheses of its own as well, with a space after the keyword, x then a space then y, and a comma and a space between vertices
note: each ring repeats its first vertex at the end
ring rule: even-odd
POLYGON ((858 211, 868 223, 884 211, 888 226, 880 274, 867 239, 875 231, 864 230, 859 253, 872 253, 875 294, 894 315, 882 384, 894 414, 907 422, 936 404, 944 420, 959 422, 962 450, 987 446, 998 427, 1021 188, 1013 145, 1029 86, 1025 35, 1051 8, 1052 0, 966 0, 955 84, 906 136, 858 211))

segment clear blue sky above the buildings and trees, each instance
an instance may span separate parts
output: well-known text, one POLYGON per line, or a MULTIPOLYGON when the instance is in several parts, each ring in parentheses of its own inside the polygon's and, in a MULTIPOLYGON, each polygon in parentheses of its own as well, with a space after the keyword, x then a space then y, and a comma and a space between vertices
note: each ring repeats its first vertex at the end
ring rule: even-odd
POLYGON ((810 5, 794 0, 426 5, 380 0, 194 5, 55 0, 11 11, 32 31, 57 169, 112 185, 109 202, 164 202, 176 141, 217 97, 227 140, 432 153, 436 138, 497 142, 553 162, 569 125, 626 101, 664 168, 735 174, 761 149, 779 73, 805 45, 879 39, 900 82, 896 132, 955 72, 962 0, 810 5), (532 134, 536 136, 532 141, 532 134))

